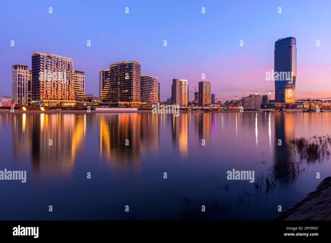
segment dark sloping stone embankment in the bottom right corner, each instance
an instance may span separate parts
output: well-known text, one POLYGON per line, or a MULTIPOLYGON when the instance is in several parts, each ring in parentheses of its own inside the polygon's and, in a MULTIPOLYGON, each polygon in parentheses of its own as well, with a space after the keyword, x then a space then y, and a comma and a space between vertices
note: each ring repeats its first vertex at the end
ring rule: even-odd
POLYGON ((331 220, 331 177, 273 220, 331 220))

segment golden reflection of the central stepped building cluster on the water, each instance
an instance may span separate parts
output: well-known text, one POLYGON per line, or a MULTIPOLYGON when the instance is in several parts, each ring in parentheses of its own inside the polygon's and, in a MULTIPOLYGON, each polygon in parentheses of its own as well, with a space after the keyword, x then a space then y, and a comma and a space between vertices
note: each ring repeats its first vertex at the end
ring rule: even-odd
POLYGON ((96 114, 96 117, 100 127, 100 158, 113 168, 140 168, 141 154, 158 152, 160 115, 96 114), (125 145, 126 139, 129 146, 125 145))

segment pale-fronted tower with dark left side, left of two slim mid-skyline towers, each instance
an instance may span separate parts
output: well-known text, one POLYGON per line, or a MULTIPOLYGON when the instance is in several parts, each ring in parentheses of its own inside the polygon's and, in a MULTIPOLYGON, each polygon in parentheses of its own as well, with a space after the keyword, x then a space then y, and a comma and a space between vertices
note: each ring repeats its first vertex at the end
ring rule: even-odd
POLYGON ((172 103, 180 107, 187 106, 188 84, 185 79, 172 79, 171 85, 172 103))

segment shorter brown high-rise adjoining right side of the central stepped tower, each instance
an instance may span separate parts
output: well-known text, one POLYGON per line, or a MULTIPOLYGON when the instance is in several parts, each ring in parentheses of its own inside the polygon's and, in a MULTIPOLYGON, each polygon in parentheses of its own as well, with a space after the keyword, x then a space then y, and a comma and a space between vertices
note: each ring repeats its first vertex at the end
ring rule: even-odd
POLYGON ((159 102, 158 78, 148 75, 140 75, 140 100, 146 102, 147 107, 159 102))

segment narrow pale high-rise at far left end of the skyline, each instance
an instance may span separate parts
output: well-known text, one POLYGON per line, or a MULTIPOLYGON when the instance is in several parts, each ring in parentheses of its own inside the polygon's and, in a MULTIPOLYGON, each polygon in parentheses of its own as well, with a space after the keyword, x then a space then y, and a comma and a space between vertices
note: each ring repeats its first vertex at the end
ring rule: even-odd
POLYGON ((28 66, 12 66, 12 93, 14 105, 31 105, 31 70, 28 66))

